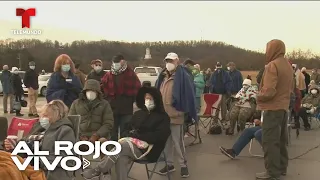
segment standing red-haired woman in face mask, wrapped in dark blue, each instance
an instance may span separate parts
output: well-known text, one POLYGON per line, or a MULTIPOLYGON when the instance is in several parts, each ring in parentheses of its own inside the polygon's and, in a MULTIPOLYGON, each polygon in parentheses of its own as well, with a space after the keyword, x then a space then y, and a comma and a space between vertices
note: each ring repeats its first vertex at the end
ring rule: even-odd
POLYGON ((82 90, 80 79, 74 75, 74 72, 74 63, 68 55, 62 54, 57 57, 54 64, 54 73, 51 75, 47 86, 47 102, 60 99, 68 107, 71 106, 82 90))

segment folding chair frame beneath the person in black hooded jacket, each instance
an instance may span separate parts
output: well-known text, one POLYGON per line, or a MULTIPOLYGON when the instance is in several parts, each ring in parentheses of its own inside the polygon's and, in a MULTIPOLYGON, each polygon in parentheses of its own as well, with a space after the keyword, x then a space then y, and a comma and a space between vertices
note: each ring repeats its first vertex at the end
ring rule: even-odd
MULTIPOLYGON (((134 179, 134 178, 132 178, 132 177, 129 176, 129 173, 130 173, 130 171, 131 171, 132 166, 133 166, 134 163, 144 164, 144 165, 145 165, 145 168, 146 168, 146 171, 147 171, 148 180, 151 180, 151 179, 152 179, 152 176, 153 176, 154 174, 160 175, 158 172, 156 172, 156 168, 157 168, 158 163, 161 162, 161 161, 164 161, 166 167, 168 167, 167 157, 166 157, 166 155, 165 155, 164 152, 162 152, 162 156, 163 156, 163 157, 160 156, 159 159, 157 160, 157 162, 155 162, 155 165, 153 166, 152 170, 150 170, 150 169, 148 168, 148 164, 152 164, 152 163, 150 163, 150 162, 148 162, 148 161, 146 161, 146 160, 136 160, 136 161, 132 162, 131 165, 130 165, 129 171, 128 171, 128 178, 133 179, 133 180, 136 180, 136 179, 134 179)), ((168 180, 171 180, 170 173, 167 173, 167 178, 168 178, 168 180)))

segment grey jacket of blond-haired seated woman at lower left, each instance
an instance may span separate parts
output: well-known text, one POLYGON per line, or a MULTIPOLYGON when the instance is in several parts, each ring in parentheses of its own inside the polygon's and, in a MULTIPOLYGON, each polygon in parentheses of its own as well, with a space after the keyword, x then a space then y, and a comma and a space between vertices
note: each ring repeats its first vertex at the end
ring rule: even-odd
MULTIPOLYGON (((54 142, 55 141, 71 141, 73 144, 76 141, 75 133, 72 129, 72 123, 67 118, 63 118, 61 120, 56 121, 51 124, 48 130, 45 132, 43 140, 42 140, 42 151, 49 151, 47 159, 50 163, 55 159, 54 155, 54 142)), ((60 156, 67 156, 67 154, 63 151, 60 156)), ((69 166, 74 165, 74 161, 67 162, 69 166)), ((60 163, 58 163, 57 167, 53 171, 47 171, 43 164, 40 165, 41 169, 43 169, 46 173, 47 180, 70 180, 72 179, 73 172, 68 172, 61 168, 60 163)))

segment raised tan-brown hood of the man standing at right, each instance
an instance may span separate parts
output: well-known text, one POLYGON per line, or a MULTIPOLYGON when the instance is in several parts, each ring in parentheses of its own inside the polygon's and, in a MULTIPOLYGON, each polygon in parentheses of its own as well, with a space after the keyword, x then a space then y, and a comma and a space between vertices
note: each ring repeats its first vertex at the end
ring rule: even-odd
POLYGON ((267 44, 266 61, 269 63, 279 57, 284 57, 285 53, 286 46, 284 42, 278 39, 271 40, 267 44))

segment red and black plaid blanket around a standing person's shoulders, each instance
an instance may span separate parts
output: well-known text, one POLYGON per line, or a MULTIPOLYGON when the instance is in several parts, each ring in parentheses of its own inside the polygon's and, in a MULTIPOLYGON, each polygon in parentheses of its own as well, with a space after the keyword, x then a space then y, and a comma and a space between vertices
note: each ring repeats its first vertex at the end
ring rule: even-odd
POLYGON ((102 77, 101 83, 104 95, 107 98, 114 98, 116 95, 136 96, 141 87, 139 78, 129 67, 118 75, 112 72, 106 73, 102 77), (119 84, 115 84, 115 76, 119 76, 119 84))

